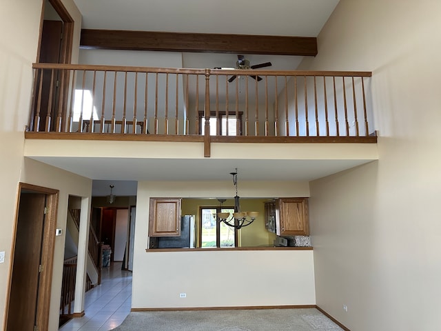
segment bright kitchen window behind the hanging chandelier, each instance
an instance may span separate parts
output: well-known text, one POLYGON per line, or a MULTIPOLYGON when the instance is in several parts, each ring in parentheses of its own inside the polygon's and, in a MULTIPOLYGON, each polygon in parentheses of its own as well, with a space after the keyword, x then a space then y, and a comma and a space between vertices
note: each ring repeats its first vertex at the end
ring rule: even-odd
POLYGON ((218 212, 234 212, 234 207, 201 207, 199 238, 202 248, 237 247, 237 230, 217 221, 218 212))

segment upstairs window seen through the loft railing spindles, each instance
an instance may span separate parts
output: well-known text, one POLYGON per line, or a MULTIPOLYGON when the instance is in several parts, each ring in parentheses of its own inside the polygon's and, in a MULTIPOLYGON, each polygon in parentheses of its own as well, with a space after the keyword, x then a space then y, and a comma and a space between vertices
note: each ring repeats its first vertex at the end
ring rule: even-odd
MULTIPOLYGON (((211 112, 209 118, 209 134, 216 136, 216 128, 219 129, 220 136, 240 136, 242 135, 242 112, 229 112, 228 117, 226 112, 211 112)), ((199 112, 199 132, 205 133, 205 119, 204 112, 199 112)))

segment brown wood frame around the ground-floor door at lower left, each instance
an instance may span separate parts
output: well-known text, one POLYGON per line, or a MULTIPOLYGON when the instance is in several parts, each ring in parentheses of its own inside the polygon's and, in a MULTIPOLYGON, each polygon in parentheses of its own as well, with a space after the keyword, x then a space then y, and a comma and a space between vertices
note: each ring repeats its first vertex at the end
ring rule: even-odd
MULTIPOLYGON (((6 308, 3 329, 6 330, 8 326, 8 312, 10 303, 10 292, 12 285, 12 270, 14 268, 14 253, 15 243, 17 239, 17 223, 19 219, 20 197, 23 190, 32 193, 42 193, 46 195, 46 208, 48 212, 45 216, 45 226, 43 229, 43 242, 41 245, 41 265, 43 269, 40 273, 39 290, 37 294, 37 314, 36 321, 39 330, 48 330, 49 324, 49 309, 50 306, 50 292, 52 288, 52 270, 54 266, 54 248, 55 248, 55 230, 57 227, 57 212, 59 190, 52 188, 44 188, 28 183, 19 183, 19 196, 17 198, 17 205, 15 206, 14 232, 12 237, 11 257, 9 265, 8 290, 6 292, 6 308)), ((7 330, 12 331, 12 330, 7 330)))

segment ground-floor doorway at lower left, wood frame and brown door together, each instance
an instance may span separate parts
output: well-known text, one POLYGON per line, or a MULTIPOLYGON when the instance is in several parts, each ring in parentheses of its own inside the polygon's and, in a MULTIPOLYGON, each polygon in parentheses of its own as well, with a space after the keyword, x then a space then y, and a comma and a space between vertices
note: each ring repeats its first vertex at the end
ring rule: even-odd
POLYGON ((6 330, 48 330, 59 191, 19 185, 6 330))

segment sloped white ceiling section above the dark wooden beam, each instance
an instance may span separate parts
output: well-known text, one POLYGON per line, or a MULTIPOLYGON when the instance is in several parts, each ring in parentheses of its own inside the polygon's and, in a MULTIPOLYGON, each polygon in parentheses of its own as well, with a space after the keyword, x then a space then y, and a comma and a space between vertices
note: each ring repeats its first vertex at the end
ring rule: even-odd
POLYGON ((338 0, 74 0, 83 28, 317 37, 338 0))

